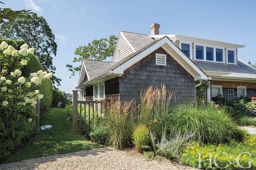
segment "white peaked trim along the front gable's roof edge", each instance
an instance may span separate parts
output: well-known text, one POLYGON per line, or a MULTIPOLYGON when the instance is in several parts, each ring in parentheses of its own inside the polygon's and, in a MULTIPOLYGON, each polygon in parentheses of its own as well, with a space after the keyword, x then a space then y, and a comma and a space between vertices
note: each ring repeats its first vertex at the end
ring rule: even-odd
POLYGON ((159 47, 162 47, 167 53, 169 53, 173 57, 174 60, 176 60, 183 68, 185 68, 187 72, 194 77, 194 80, 207 80, 207 76, 205 75, 205 73, 202 72, 190 59, 188 59, 187 56, 183 52, 181 52, 181 50, 176 45, 174 45, 173 42, 167 37, 164 37, 163 39, 155 42, 144 51, 133 56, 133 58, 131 58, 130 60, 122 63, 122 65, 113 69, 113 73, 124 74, 124 70, 131 67, 138 61, 142 60, 153 51, 156 51, 156 49, 158 49, 159 47))

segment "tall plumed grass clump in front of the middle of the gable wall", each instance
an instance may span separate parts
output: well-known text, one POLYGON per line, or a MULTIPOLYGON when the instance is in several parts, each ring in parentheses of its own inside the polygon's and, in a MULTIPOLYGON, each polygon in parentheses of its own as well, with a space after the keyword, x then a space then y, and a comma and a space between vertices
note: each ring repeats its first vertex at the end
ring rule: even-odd
POLYGON ((141 103, 138 106, 138 122, 145 124, 149 130, 161 139, 164 130, 170 131, 171 98, 173 93, 166 92, 165 86, 161 88, 149 87, 140 93, 141 103))

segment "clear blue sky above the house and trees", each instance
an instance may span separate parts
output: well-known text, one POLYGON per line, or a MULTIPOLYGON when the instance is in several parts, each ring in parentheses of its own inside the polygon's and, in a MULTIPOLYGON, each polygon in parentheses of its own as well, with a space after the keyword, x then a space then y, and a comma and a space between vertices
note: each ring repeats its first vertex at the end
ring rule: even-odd
POLYGON ((256 60, 256 1, 68 1, 7 0, 4 8, 32 9, 43 16, 57 41, 53 58, 61 90, 71 93, 78 75, 69 78, 65 67, 76 47, 93 39, 118 36, 120 30, 150 34, 152 23, 160 34, 177 33, 246 45, 238 56, 256 60))

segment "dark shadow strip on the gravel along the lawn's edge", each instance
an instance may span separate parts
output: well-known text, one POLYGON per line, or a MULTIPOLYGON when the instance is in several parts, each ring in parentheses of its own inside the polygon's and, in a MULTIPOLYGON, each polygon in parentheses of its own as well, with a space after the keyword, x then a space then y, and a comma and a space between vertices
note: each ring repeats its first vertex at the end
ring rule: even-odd
POLYGON ((103 147, 103 148, 96 148, 92 150, 77 151, 73 153, 50 155, 48 157, 26 159, 18 162, 11 162, 9 164, 0 164, 0 169, 15 169, 15 170, 16 169, 36 169, 41 164, 53 162, 53 161, 56 161, 57 159, 72 158, 72 157, 74 157, 73 159, 76 159, 75 157, 86 157, 88 155, 98 155, 100 153, 105 153, 107 151, 113 151, 113 150, 111 148, 103 147))

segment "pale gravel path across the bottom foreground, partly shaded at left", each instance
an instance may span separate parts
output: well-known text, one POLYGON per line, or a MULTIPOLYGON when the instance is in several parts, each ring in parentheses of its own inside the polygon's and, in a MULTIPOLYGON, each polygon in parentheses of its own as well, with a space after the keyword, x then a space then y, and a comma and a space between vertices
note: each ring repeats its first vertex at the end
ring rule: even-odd
POLYGON ((146 161, 135 151, 104 147, 0 165, 0 169, 193 169, 163 159, 146 161))

